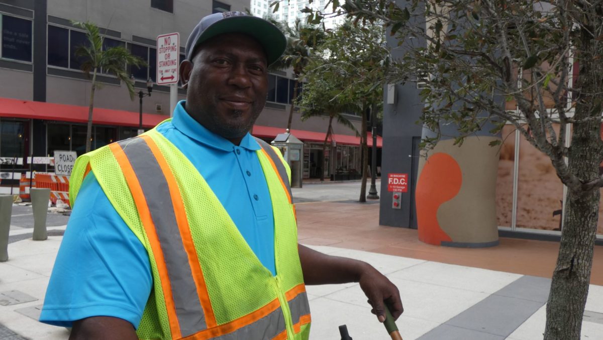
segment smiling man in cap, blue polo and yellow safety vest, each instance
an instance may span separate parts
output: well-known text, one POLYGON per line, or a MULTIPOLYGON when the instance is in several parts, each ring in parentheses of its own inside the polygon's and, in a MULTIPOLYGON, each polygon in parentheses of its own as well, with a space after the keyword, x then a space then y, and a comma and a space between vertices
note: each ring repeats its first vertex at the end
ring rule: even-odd
POLYGON ((78 159, 40 321, 71 339, 308 339, 305 284, 346 282, 379 321, 384 301, 402 313, 372 266, 297 244, 286 163, 248 133, 285 43, 257 17, 204 17, 174 118, 78 159))

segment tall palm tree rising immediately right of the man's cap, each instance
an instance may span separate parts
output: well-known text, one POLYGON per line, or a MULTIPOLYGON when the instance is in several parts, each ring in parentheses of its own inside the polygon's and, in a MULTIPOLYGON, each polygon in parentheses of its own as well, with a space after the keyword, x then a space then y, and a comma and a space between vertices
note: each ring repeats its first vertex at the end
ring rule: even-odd
POLYGON ((303 69, 308 66, 308 63, 314 55, 315 49, 324 39, 324 31, 320 27, 303 24, 300 19, 295 19, 293 27, 289 27, 284 21, 279 22, 275 20, 272 16, 268 16, 266 19, 280 28, 287 38, 285 52, 283 52, 283 55, 279 60, 274 62, 270 68, 279 70, 292 68, 293 70, 295 76, 293 98, 291 99, 289 120, 287 122, 287 128, 291 130, 295 100, 297 99, 300 90, 300 75, 302 74, 303 69))

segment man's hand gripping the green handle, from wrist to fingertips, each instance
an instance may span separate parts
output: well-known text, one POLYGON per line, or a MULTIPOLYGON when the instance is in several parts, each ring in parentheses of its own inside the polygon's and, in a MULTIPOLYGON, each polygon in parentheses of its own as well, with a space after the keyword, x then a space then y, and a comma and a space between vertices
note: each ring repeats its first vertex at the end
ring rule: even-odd
POLYGON ((362 272, 360 280, 360 288, 367 295, 368 303, 373 307, 371 313, 377 315, 380 323, 385 321, 384 303, 390 309, 391 316, 397 320, 404 312, 402 300, 400 300, 400 292, 396 285, 381 274, 371 265, 366 265, 365 271, 362 272))

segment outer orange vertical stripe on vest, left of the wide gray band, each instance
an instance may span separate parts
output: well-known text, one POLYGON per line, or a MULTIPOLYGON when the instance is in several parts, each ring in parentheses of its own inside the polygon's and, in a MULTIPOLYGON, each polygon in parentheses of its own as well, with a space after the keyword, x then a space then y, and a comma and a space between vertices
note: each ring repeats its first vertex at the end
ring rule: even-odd
POLYGON ((119 166, 122 169, 125 180, 128 183, 128 187, 130 188, 130 192, 132 194, 132 198, 134 199, 134 203, 136 204, 136 208, 138 210, 138 214, 140 216, 140 222, 142 223, 142 227, 145 228, 148 242, 151 245, 151 250, 153 250, 153 255, 156 259, 157 271, 159 272, 159 280, 162 286, 163 294, 165 295, 165 308, 168 313, 168 322, 169 329, 172 333, 173 338, 182 337, 180 333, 180 324, 178 324, 178 318, 176 316, 176 309, 174 306, 174 298, 172 297, 172 289, 171 284, 169 282, 168 270, 165 266, 165 260, 163 259, 163 252, 159 245, 159 238, 157 237, 157 231, 155 230, 155 226, 153 224, 153 219, 151 218, 151 212, 148 209, 147 200, 142 192, 142 187, 140 187, 140 183, 136 174, 134 173, 134 169, 130 165, 130 161, 125 156, 124 150, 121 148, 121 145, 118 143, 109 144, 109 148, 115 156, 115 159, 119 163, 119 166))

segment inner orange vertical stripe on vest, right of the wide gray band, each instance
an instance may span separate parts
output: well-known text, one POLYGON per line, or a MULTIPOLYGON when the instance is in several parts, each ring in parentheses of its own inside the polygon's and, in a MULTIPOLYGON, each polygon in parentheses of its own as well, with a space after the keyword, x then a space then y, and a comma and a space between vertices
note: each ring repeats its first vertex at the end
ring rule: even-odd
POLYGON ((201 269, 197 250, 195 250, 195 244, 192 241, 191 229, 188 224, 188 218, 186 217, 186 210, 182 201, 182 195, 180 194, 178 183, 176 182, 176 178, 169 168, 168 162, 165 160, 165 157, 163 157, 163 154, 159 150, 159 147, 155 141, 148 135, 142 135, 140 137, 147 142, 147 145, 151 149, 151 152, 153 152, 153 156, 155 156, 157 159, 157 163, 162 169, 165 179, 168 182, 169 194, 172 198, 172 205, 174 206, 178 230, 180 231, 182 244, 185 248, 186 254, 188 255, 189 266, 191 266, 192 276, 195 280, 195 286, 197 287, 197 295, 199 297, 199 301, 201 301, 203 313, 205 314, 205 322, 207 328, 215 327, 217 326, 216 317, 213 313, 211 301, 209 300, 209 294, 207 293, 207 286, 205 283, 205 278, 203 277, 203 269, 201 269))

